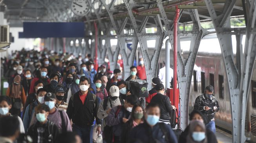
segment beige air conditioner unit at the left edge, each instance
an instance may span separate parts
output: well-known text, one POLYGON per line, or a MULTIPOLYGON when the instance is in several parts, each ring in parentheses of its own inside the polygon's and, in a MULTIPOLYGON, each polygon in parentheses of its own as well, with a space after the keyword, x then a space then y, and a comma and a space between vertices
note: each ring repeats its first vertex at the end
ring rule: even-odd
POLYGON ((0 25, 0 48, 10 45, 9 25, 0 25))

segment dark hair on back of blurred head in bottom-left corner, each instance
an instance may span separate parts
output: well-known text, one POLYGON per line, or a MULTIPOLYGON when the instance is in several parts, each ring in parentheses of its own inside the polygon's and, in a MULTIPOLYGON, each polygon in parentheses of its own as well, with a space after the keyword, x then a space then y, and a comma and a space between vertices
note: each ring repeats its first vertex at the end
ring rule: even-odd
POLYGON ((11 137, 19 130, 20 122, 15 116, 4 116, 0 118, 0 136, 11 137))

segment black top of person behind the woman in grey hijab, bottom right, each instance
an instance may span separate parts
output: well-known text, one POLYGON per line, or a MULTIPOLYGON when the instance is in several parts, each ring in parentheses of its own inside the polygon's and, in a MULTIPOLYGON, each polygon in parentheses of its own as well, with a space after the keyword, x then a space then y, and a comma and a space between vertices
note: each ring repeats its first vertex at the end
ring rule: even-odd
MULTIPOLYGON (((189 125, 180 135, 179 143, 186 143, 188 135, 189 135, 189 125)), ((211 130, 206 129, 206 136, 207 136, 207 143, 218 143, 215 134, 211 130)))

